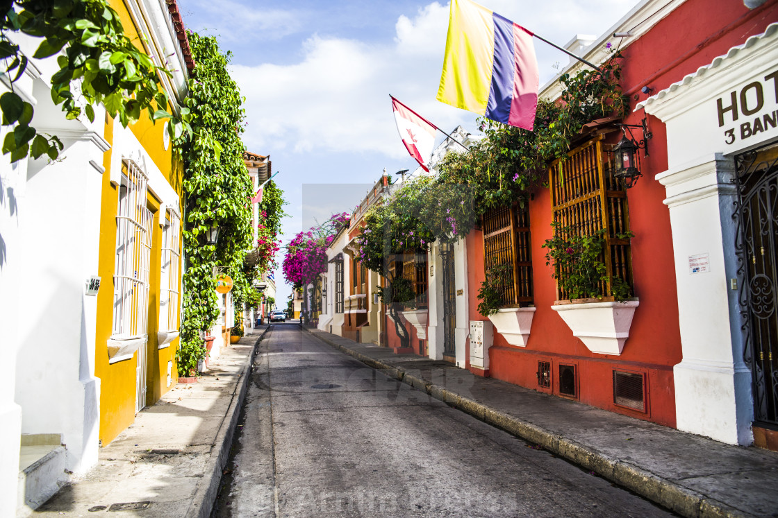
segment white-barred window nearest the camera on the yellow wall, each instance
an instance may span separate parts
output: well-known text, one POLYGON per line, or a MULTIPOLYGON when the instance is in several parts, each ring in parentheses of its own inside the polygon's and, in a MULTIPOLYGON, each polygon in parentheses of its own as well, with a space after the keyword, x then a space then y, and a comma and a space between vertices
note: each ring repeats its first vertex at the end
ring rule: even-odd
POLYGON ((149 265, 152 213, 146 207, 145 172, 131 160, 122 162, 116 216, 114 263, 114 339, 145 337, 149 325, 149 265))

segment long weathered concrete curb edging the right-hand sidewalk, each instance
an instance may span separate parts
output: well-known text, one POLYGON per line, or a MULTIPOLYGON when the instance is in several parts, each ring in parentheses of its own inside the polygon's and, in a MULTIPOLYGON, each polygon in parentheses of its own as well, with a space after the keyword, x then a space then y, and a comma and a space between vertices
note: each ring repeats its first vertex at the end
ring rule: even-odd
POLYGON ((405 370, 349 349, 349 347, 334 342, 326 336, 314 333, 302 325, 300 327, 329 346, 335 347, 335 349, 341 350, 349 356, 353 356, 367 366, 382 371, 389 377, 425 391, 433 398, 473 415, 477 419, 488 422, 490 425, 496 426, 513 436, 538 444, 552 454, 571 461, 573 464, 588 471, 594 471, 601 477, 607 478, 623 488, 627 488, 682 516, 693 518, 709 518, 713 516, 741 518, 743 516, 751 516, 666 478, 658 477, 643 468, 608 457, 598 450, 576 443, 573 440, 565 439, 531 422, 518 419, 495 408, 490 408, 482 403, 461 397, 440 385, 429 383, 411 374, 406 374, 405 370))

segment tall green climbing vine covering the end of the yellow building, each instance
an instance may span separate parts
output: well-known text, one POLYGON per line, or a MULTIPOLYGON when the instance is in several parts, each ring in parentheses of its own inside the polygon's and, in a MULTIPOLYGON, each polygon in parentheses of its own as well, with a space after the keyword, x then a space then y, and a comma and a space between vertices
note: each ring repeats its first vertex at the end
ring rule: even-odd
POLYGON ((179 375, 205 356, 201 333, 219 316, 214 272, 233 278, 233 297, 247 297, 252 268, 244 267, 252 248, 251 178, 243 161, 240 141, 244 119, 243 98, 230 78, 230 53, 221 54, 215 37, 188 33, 197 66, 189 80, 187 107, 193 133, 180 146, 184 159, 184 318, 177 354, 179 375), (215 109, 218 106, 218 109, 215 109), (219 228, 216 245, 205 233, 219 228), (182 367, 183 366, 183 367, 182 367))

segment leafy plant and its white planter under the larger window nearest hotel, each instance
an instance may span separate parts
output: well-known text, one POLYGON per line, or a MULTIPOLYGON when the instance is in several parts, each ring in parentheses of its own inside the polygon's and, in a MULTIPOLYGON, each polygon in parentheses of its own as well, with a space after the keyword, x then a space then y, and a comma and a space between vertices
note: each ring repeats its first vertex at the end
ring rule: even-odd
MULTIPOLYGON (((609 276, 602 261, 605 230, 593 235, 577 235, 573 229, 553 223, 554 235, 543 248, 546 265, 554 267, 554 279, 566 301, 557 301, 552 309, 593 353, 619 355, 629 338, 639 301, 629 298, 632 288, 626 280, 609 276)), ((618 235, 629 239, 633 234, 618 235)))

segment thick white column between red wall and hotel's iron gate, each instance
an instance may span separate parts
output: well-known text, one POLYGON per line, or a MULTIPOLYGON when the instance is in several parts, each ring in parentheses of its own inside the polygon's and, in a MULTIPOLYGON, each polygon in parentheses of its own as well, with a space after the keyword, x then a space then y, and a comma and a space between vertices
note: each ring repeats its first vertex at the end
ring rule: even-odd
POLYGON ((730 284, 737 278, 733 175, 731 159, 716 154, 657 180, 667 190, 678 286, 683 352, 674 367, 678 429, 748 444, 751 373, 743 360, 738 292, 730 284), (701 254, 709 257, 710 271, 692 273, 689 258, 701 254))

